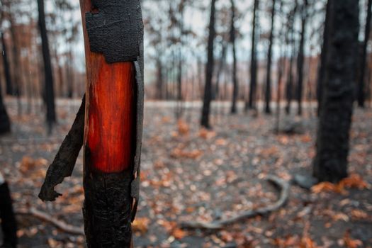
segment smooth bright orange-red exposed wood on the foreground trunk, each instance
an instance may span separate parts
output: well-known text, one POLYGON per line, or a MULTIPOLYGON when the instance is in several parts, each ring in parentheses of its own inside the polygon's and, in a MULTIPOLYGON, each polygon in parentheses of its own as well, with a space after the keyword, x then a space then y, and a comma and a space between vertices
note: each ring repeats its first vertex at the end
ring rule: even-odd
MULTIPOLYGON (((90 0, 80 2, 81 11, 91 11, 90 0)), ((104 173, 132 169, 136 125, 133 62, 108 64, 102 54, 91 52, 85 20, 83 26, 87 80, 84 145, 90 151, 85 166, 104 173)))

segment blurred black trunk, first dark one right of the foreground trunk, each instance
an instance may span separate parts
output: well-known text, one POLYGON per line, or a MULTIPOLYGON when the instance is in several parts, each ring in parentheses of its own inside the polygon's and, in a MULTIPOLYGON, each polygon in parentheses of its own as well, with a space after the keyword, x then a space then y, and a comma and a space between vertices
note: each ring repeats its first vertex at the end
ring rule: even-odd
POLYGON ((201 125, 204 128, 210 128, 209 114, 210 114, 210 102, 212 101, 212 77, 214 67, 214 42, 215 42, 215 1, 211 0, 210 4, 210 21, 209 21, 209 38, 208 38, 208 62, 205 68, 205 86, 204 86, 204 98, 203 98, 203 109, 201 112, 201 125))

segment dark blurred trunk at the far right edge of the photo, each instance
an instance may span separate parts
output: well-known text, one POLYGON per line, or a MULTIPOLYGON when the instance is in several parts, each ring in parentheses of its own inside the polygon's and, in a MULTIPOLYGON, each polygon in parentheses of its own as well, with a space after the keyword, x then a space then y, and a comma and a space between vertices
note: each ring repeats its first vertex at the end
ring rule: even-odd
POLYGON ((358 106, 364 108, 364 102, 366 101, 366 63, 367 63, 367 45, 369 40, 369 33, 371 31, 371 7, 372 0, 368 0, 366 28, 364 29, 364 40, 361 55, 361 72, 358 81, 358 106))

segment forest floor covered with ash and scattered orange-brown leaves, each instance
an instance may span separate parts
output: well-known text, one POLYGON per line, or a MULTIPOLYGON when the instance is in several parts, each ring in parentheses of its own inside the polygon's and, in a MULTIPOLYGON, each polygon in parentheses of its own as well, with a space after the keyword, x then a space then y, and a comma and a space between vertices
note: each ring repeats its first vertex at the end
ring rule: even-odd
MULTIPOLYGON (((6 106, 12 133, 0 137, 0 171, 11 184, 14 208, 37 208, 81 227, 81 154, 72 177, 57 188, 62 197, 55 203, 37 197, 79 101, 58 101, 58 125, 50 136, 40 106, 20 116, 13 99, 6 106)), ((274 203, 278 192, 264 180, 268 174, 286 181, 311 174, 315 111, 308 107, 303 118, 289 117, 302 123, 303 132, 295 135, 274 134, 275 115, 230 115, 221 105, 213 108, 213 131, 206 131, 198 125, 200 108, 190 104, 181 122, 174 112, 174 106, 156 102, 145 107, 135 247, 372 247, 371 108, 356 109, 351 130, 349 174, 360 188, 320 185, 309 191, 292 185, 283 208, 218 231, 182 230, 179 223, 224 219, 274 203)), ((83 236, 33 216, 18 215, 18 225, 20 247, 84 247, 83 236)))

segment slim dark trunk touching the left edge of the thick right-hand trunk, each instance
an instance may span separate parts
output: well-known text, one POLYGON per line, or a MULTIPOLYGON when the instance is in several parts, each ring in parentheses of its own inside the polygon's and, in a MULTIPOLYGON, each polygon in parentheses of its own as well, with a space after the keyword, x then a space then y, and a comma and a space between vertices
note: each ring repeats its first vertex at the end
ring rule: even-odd
POLYGON ((329 35, 329 2, 327 1, 326 12, 325 12, 325 24, 323 30, 323 44, 322 52, 320 54, 320 67, 317 74, 317 115, 320 115, 320 109, 322 107, 322 94, 323 86, 325 81, 325 63, 327 59, 327 43, 329 35))

